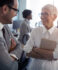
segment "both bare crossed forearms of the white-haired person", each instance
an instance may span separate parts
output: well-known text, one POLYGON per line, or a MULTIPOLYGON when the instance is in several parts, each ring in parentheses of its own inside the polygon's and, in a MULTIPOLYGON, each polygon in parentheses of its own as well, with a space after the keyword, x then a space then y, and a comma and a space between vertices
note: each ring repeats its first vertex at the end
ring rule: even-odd
POLYGON ((46 59, 46 60, 55 60, 53 58, 53 51, 51 50, 45 50, 45 49, 40 49, 40 48, 33 48, 32 52, 30 52, 28 54, 28 56, 31 56, 31 57, 36 57, 36 58, 39 58, 39 59, 46 59), (34 53, 36 55, 34 55, 34 53), (31 54, 31 55, 30 55, 31 54), (38 56, 39 55, 39 56, 38 56))

